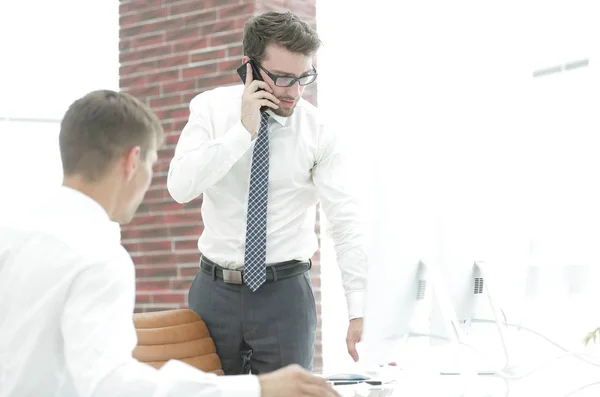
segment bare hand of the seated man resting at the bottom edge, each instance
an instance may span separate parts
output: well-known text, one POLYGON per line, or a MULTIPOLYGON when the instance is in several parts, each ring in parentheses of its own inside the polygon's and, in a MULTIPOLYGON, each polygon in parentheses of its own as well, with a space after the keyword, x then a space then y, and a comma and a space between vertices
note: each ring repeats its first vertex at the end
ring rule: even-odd
POLYGON ((261 397, 339 397, 323 378, 312 375, 299 365, 259 375, 261 397))

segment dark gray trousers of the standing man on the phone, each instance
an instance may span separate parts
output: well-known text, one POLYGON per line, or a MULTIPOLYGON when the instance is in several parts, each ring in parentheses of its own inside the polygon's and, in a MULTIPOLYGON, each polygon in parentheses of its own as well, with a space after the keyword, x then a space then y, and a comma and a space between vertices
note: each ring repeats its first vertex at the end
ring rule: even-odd
POLYGON ((188 303, 206 322, 226 375, 263 374, 288 364, 312 370, 317 311, 309 272, 252 292, 200 270, 188 303))

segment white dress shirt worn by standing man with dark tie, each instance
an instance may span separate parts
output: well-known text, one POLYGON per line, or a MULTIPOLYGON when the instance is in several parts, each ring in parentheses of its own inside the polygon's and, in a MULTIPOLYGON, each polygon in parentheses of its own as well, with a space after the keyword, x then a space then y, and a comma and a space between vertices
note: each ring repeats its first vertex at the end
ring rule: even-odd
MULTIPOLYGON (((242 91, 243 85, 221 87, 192 99, 167 178, 169 192, 179 203, 203 195, 204 231, 198 248, 231 269, 244 262, 255 142, 241 123, 242 91)), ((350 318, 362 317, 367 255, 336 136, 307 101, 300 100, 290 117, 270 113, 267 263, 314 255, 315 206, 320 200, 331 225, 350 318)))

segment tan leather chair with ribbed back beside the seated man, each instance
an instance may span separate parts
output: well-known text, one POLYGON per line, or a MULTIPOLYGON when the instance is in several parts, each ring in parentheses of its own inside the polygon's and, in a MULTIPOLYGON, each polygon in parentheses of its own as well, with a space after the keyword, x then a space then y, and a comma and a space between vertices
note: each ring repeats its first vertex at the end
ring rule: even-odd
POLYGON ((204 372, 223 375, 208 328, 192 310, 135 313, 133 322, 138 336, 133 356, 137 360, 160 368, 168 360, 176 359, 204 372))

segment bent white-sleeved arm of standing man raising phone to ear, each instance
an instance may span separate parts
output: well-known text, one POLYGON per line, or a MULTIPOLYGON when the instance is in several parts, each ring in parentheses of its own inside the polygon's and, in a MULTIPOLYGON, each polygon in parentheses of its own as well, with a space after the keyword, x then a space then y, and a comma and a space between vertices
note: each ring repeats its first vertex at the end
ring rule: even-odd
POLYGON ((250 148, 251 134, 241 121, 215 138, 207 96, 190 103, 190 117, 181 132, 169 166, 167 189, 178 203, 187 203, 221 180, 250 148))

